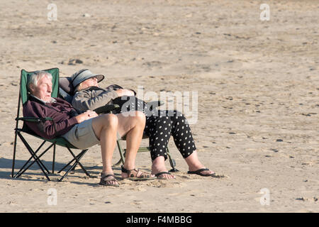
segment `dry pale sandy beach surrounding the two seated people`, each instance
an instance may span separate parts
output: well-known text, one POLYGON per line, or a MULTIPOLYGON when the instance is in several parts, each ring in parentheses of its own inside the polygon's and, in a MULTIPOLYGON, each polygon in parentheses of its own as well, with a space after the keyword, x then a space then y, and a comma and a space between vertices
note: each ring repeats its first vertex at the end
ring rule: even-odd
MULTIPOLYGON (((0 1, 1 212, 319 211, 319 1, 53 2, 57 21, 47 19, 52 1, 0 1), (270 21, 259 19, 263 3, 270 21), (187 175, 170 141, 180 170, 170 181, 100 187, 76 170, 47 182, 36 165, 11 179, 20 71, 52 67, 62 76, 103 73, 102 86, 198 92, 198 155, 223 177, 187 175), (269 205, 260 203, 262 189, 269 205)), ((28 153, 21 140, 17 149, 21 167, 28 153)), ((42 159, 50 166, 52 152, 42 159)), ((69 159, 58 148, 56 168, 69 159)), ((82 163, 99 176, 98 145, 82 163)), ((150 171, 150 154, 139 153, 136 165, 150 171)))

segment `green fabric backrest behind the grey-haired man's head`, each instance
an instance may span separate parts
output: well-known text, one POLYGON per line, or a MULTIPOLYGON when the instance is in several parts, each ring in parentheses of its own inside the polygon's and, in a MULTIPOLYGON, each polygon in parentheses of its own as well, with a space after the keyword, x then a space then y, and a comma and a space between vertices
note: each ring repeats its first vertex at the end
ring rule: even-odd
MULTIPOLYGON (((58 91, 59 91, 59 69, 58 68, 52 68, 49 70, 42 70, 45 72, 50 72, 52 74, 52 93, 51 96, 53 98, 57 97, 58 91)), ((25 104, 26 101, 28 101, 28 79, 30 75, 32 75, 35 71, 33 72, 28 72, 26 70, 21 70, 21 78, 20 78, 20 95, 21 95, 21 101, 22 104, 25 104)), ((20 101, 20 100, 19 100, 20 101)))

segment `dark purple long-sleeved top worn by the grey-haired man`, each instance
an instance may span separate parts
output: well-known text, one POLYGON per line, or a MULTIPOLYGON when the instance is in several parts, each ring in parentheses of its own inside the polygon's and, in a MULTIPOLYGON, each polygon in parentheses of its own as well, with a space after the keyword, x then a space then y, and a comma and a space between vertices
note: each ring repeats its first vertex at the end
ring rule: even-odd
POLYGON ((67 101, 55 98, 54 103, 42 103, 40 100, 30 96, 30 99, 23 105, 23 116, 45 118, 50 117, 52 121, 35 123, 26 121, 27 126, 37 135, 43 138, 52 139, 64 135, 74 125, 77 124, 74 115, 71 112, 77 112, 67 101))

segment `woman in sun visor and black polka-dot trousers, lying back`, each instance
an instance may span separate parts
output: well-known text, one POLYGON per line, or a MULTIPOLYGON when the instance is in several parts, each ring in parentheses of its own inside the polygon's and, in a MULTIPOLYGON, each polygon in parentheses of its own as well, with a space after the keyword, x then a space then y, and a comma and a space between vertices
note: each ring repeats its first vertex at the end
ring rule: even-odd
MULTIPOLYGON (((113 104, 122 96, 134 96, 134 92, 128 89, 103 89, 99 82, 104 78, 102 74, 92 74, 89 70, 80 70, 72 75, 72 83, 76 92, 72 99, 72 105, 87 111, 96 109, 106 104, 113 104)), ((135 99, 134 99, 135 100, 135 99)), ((127 103, 126 103, 127 104, 127 103)), ((130 107, 122 106, 121 112, 130 111, 130 107), (123 108, 124 107, 124 108, 123 108)), ((138 100, 135 107, 145 111, 145 103, 138 100)), ((178 111, 145 111, 146 123, 144 133, 149 136, 152 174, 161 179, 175 178, 164 165, 167 159, 167 145, 172 135, 174 143, 189 166, 189 174, 209 177, 215 175, 211 170, 204 167, 198 160, 196 146, 191 134, 191 128, 184 115, 178 111)))

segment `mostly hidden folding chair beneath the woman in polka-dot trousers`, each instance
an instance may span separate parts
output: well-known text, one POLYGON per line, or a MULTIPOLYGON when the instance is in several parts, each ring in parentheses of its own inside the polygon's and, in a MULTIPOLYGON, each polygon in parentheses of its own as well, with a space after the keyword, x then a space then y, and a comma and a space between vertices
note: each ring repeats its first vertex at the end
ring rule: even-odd
MULTIPOLYGON (((72 102, 72 97, 74 95, 74 87, 72 85, 72 78, 71 77, 60 77, 59 79, 59 95, 60 97, 62 97, 63 99, 65 99, 66 101, 69 101, 69 103, 72 102)), ((108 86, 108 88, 117 88, 120 87, 116 84, 112 84, 110 86, 108 86)), ((152 106, 152 108, 156 108, 157 106, 161 106, 162 102, 161 101, 152 101, 152 102, 148 102, 147 105, 152 106)), ((118 105, 114 104, 114 105, 106 105, 106 106, 102 106, 99 109, 96 109, 94 111, 96 111, 97 114, 101 114, 101 113, 111 113, 111 111, 113 111, 114 109, 119 108, 118 105)), ((142 139, 148 139, 147 135, 143 135, 142 139)), ((120 153, 120 160, 118 160, 118 162, 116 162, 115 166, 120 165, 121 163, 124 164, 125 162, 125 153, 126 153, 126 149, 123 149, 121 146, 121 141, 125 141, 125 137, 120 138, 116 141, 117 145, 118 145, 118 152, 120 153)), ((138 153, 140 152, 150 152, 150 147, 140 147, 138 149, 138 153)), ((175 160, 172 158, 171 153, 169 152, 169 148, 167 148, 167 155, 169 157, 169 164, 172 167, 172 170, 169 170, 170 172, 177 172, 178 170, 175 168, 176 167, 176 162, 175 160)))

